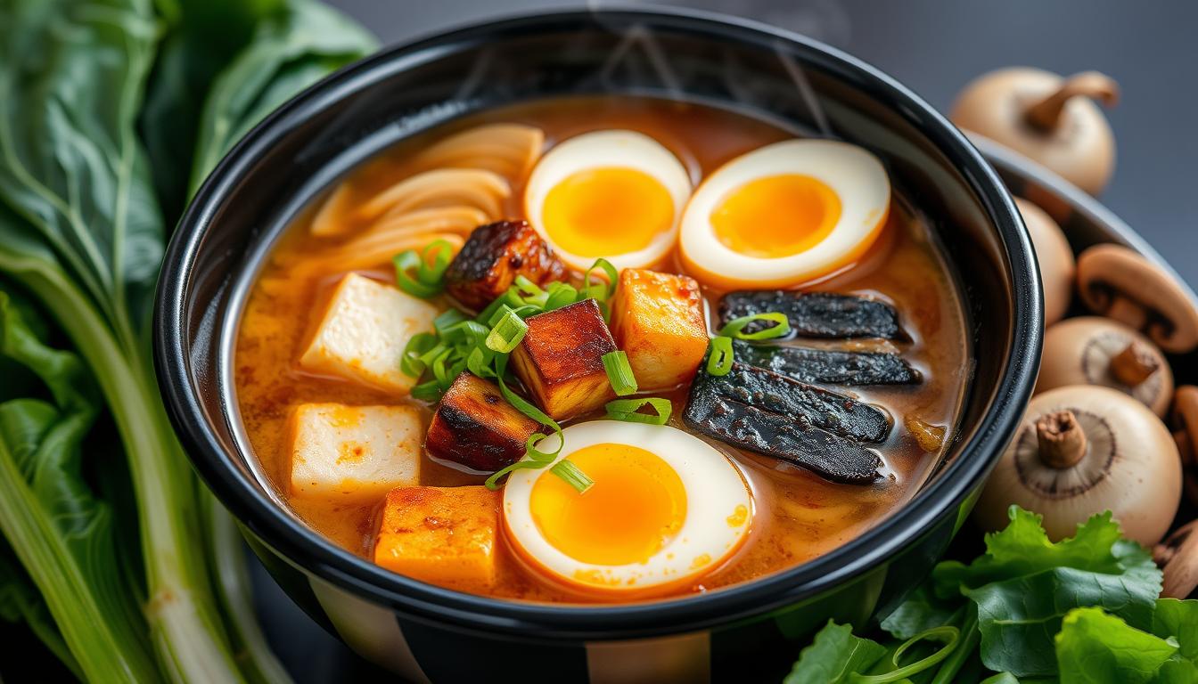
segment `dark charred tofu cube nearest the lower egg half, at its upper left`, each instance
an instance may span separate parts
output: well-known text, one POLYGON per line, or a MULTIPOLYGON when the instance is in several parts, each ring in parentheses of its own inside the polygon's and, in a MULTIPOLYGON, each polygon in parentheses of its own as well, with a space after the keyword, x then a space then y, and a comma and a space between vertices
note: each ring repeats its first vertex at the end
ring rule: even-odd
POLYGON ((438 459, 492 472, 520 460, 539 426, 508 404, 497 386, 467 371, 441 398, 424 447, 438 459))

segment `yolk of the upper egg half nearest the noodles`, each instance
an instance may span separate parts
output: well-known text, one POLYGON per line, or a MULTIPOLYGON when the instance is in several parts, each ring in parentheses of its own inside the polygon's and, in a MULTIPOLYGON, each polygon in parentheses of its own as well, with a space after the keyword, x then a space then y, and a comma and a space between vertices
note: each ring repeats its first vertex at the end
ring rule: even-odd
POLYGON ((545 195, 550 241, 579 256, 611 256, 648 247, 673 228, 670 192, 657 178, 622 167, 576 171, 545 195))

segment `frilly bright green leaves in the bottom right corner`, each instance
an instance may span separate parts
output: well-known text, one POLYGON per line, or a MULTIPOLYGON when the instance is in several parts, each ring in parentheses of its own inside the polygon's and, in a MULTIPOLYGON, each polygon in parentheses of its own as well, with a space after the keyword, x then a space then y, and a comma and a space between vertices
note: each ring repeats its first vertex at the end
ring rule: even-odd
MULTIPOLYGON (((1048 539, 1037 515, 1017 507, 1010 515, 1005 529, 986 535, 982 556, 940 563, 882 621, 895 641, 876 646, 889 658, 830 680, 1198 682, 1198 601, 1157 599, 1160 570, 1144 549, 1123 538, 1109 513, 1095 515, 1059 543, 1048 539), (901 666, 904 647, 919 648, 914 640, 920 635, 946 629, 958 635, 951 648, 945 637, 940 649, 901 666), (916 676, 913 670, 921 664, 931 665, 916 676)), ((800 666, 805 674, 819 667, 841 672, 851 646, 875 644, 851 641, 847 628, 830 630, 803 650, 797 672, 800 666)))

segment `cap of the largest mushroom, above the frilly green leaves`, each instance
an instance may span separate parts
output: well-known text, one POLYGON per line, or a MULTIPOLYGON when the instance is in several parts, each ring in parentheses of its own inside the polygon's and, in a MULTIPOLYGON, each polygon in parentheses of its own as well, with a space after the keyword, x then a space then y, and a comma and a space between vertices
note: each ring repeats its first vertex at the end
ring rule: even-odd
POLYGON ((1144 545, 1161 540, 1181 501, 1181 462, 1173 435, 1155 413, 1107 387, 1059 387, 1028 405, 1015 441, 982 490, 974 517, 1000 529, 1012 503, 1043 515, 1053 540, 1111 510, 1124 534, 1144 545), (1071 411, 1087 436, 1084 456, 1054 468, 1040 458, 1036 422, 1071 411))

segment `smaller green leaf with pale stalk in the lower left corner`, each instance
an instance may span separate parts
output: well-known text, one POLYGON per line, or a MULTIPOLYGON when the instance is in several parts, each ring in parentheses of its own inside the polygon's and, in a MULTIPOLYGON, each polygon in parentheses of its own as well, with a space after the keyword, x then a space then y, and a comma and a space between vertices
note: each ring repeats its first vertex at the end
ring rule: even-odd
MULTIPOLYGON (((58 638, 38 630, 52 650, 65 644, 63 661, 89 679, 153 679, 137 593, 111 553, 113 512, 83 480, 95 386, 80 359, 47 346, 25 315, 0 291, 0 355, 37 374, 49 397, 0 404, 0 529, 61 625, 58 638)), ((30 607, 25 599, 23 612, 30 607)))

